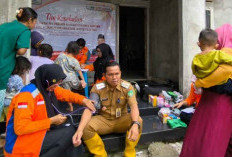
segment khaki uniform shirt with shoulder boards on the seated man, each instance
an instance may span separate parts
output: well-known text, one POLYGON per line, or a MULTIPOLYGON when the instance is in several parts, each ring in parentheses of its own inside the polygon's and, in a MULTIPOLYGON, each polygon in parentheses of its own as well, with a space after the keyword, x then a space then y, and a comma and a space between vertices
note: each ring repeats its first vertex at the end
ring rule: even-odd
POLYGON ((96 93, 99 95, 101 102, 101 109, 99 114, 106 119, 116 119, 116 109, 121 109, 121 116, 126 115, 127 104, 129 106, 137 105, 137 100, 133 86, 124 80, 112 89, 109 87, 106 81, 95 84, 90 93, 96 93), (103 110, 102 108, 105 108, 103 110))

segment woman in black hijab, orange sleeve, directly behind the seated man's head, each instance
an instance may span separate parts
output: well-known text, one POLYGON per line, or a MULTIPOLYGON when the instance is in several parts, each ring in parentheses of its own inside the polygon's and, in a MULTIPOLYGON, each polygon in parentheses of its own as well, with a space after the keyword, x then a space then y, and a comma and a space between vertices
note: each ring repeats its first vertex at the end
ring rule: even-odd
POLYGON ((96 47, 98 58, 92 65, 82 65, 82 68, 95 71, 94 83, 105 80, 103 76, 106 63, 114 60, 113 52, 108 44, 102 43, 96 47))

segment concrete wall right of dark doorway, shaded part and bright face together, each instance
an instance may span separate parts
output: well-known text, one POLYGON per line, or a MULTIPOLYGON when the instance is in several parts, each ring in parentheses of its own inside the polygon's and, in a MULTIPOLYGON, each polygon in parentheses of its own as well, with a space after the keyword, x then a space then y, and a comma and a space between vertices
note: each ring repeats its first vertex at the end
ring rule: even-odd
POLYGON ((179 83, 186 96, 196 42, 205 27, 205 0, 150 1, 150 73, 179 83))

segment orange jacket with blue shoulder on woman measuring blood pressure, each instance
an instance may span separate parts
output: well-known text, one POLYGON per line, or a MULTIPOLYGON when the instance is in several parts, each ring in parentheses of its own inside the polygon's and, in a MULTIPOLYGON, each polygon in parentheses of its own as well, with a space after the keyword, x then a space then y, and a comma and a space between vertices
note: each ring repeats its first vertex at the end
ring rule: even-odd
MULTIPOLYGON (((85 98, 61 87, 54 93, 60 101, 77 104, 85 98)), ((34 84, 25 86, 9 106, 4 155, 38 157, 50 123, 42 94, 34 84)))

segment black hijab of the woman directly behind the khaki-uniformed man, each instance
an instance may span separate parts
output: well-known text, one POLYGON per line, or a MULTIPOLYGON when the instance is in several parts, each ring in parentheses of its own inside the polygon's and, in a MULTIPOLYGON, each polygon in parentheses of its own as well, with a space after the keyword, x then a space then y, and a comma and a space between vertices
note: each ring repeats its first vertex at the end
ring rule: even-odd
POLYGON ((98 48, 101 50, 102 57, 98 57, 93 63, 95 70, 94 82, 102 78, 106 63, 114 60, 113 52, 108 44, 102 43, 96 47, 96 49, 98 48))

